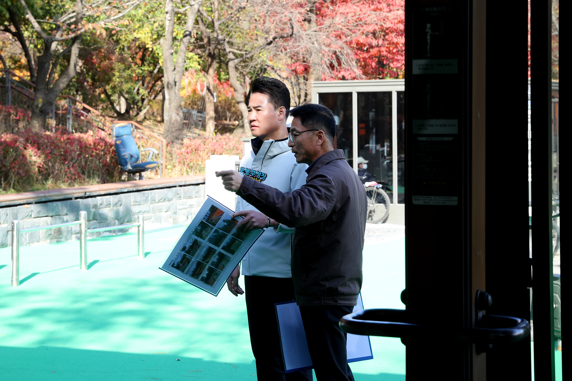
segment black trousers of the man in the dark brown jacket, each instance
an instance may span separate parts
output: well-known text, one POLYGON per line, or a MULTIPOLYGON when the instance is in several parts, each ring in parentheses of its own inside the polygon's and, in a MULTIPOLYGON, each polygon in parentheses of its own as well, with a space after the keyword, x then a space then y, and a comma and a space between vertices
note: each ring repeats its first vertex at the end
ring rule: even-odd
POLYGON ((345 339, 340 329, 342 316, 351 314, 353 306, 300 306, 308 349, 319 381, 353 381, 347 361, 345 339))

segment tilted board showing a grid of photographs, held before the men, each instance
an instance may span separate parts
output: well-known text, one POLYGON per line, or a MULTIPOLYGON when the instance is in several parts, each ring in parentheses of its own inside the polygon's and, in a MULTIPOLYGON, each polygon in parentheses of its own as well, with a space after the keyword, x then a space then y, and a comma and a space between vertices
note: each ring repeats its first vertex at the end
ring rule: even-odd
POLYGON ((231 218, 231 211, 223 208, 205 203, 161 267, 213 295, 262 232, 237 232, 239 219, 231 218))

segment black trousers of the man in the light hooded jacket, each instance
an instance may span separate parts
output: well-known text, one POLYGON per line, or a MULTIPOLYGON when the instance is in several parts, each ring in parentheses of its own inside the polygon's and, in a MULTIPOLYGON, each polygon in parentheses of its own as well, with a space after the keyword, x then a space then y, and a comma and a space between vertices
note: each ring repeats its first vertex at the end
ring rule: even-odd
POLYGON ((244 296, 258 379, 312 381, 312 370, 284 373, 274 303, 295 299, 292 278, 245 275, 244 296))

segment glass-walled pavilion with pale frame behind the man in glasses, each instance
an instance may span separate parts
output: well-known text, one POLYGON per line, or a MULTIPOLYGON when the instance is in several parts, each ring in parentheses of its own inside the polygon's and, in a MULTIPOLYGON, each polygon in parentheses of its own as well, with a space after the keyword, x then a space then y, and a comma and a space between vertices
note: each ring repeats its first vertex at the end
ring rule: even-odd
POLYGON ((404 79, 312 84, 312 102, 335 115, 334 149, 344 151, 356 172, 359 162, 367 161, 366 171, 375 181, 398 194, 390 194, 393 204, 403 204, 405 198, 404 90, 404 79))

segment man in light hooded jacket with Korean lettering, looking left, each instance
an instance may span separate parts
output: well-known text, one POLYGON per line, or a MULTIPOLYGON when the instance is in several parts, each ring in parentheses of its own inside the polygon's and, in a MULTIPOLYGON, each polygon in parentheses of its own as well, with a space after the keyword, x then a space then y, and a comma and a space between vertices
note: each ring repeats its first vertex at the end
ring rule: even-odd
MULTIPOLYGON (((252 82, 248 100, 252 152, 240 161, 240 173, 257 183, 291 192, 306 182, 306 164, 299 164, 288 147, 286 119, 290 92, 275 78, 260 77, 252 82)), ((259 380, 312 380, 312 371, 284 374, 275 303, 294 300, 290 268, 293 228, 262 214, 240 196, 236 215, 245 223, 264 225, 267 230, 242 261, 245 290, 239 285, 240 267, 228 279, 228 289, 236 296, 245 292, 252 352, 259 380), (246 212, 248 211, 248 213, 246 212), (247 215, 248 214, 248 215, 247 215)))

